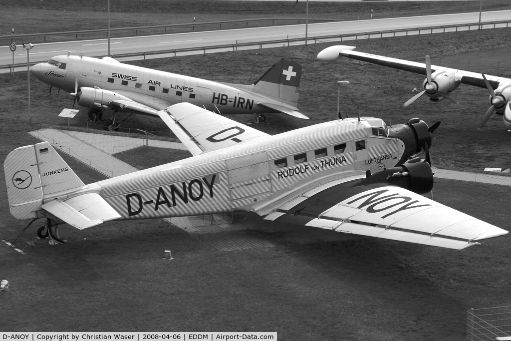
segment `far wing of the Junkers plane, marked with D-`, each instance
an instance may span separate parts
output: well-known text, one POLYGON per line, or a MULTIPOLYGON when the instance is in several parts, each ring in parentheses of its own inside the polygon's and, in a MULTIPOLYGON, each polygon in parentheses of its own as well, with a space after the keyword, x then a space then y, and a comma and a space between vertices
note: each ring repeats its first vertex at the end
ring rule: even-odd
POLYGON ((190 103, 174 104, 158 115, 193 155, 270 136, 190 103))

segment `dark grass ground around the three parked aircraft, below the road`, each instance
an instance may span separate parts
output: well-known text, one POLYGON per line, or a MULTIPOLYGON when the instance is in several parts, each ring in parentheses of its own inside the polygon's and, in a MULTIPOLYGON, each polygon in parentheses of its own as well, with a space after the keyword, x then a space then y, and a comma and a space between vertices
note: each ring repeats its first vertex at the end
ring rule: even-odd
MULTIPOLYGON (((499 65, 499 74, 511 77, 510 38, 505 29, 484 30, 362 40, 357 50, 415 61, 430 54, 434 64, 441 57, 442 65, 465 70, 470 60, 471 71, 488 74, 496 74, 499 65)), ((343 87, 341 98, 352 116, 360 108, 361 115, 392 124, 412 117, 442 121, 432 150, 450 168, 511 166, 510 135, 501 119, 494 116, 476 131, 489 106, 484 89, 461 86, 453 93, 458 106, 421 99, 403 108, 422 76, 346 59, 317 61, 316 54, 329 45, 134 63, 250 84, 285 57, 304 67, 298 106, 311 120, 268 115, 269 123, 259 129, 277 133, 333 119, 334 82, 345 79, 351 84, 343 87)), ((26 74, 0 75, 0 160, 16 147, 37 142, 28 131, 67 128, 67 120, 56 115, 72 105, 68 94, 57 97, 54 90, 49 96, 48 86, 32 78, 28 123, 26 88, 26 74)), ((84 120, 82 110, 71 128, 84 129, 84 120)), ((168 137, 156 119, 137 116, 125 124, 168 137)), ((134 150, 122 157, 137 167, 150 167, 158 159, 163 163, 184 156, 157 153, 134 150)), ((63 157, 85 183, 103 178, 63 157)), ((442 160, 433 162, 447 167, 442 160)), ((510 227, 508 188, 435 180, 433 195, 457 210, 510 227)), ((10 215, 5 188, 0 189, 0 218, 0 239, 11 242, 27 224, 10 215)), ((16 241, 27 255, 0 246, 0 277, 12 287, 0 292, 2 331, 276 331, 283 340, 462 340, 466 310, 511 305, 508 236, 461 252, 363 237, 218 252, 162 220, 112 222, 85 231, 66 226, 61 233, 68 242, 53 247, 45 242, 27 245, 37 227, 16 241), (165 249, 172 250, 174 260, 161 259, 165 249)), ((271 233, 260 234, 272 240, 271 233)))

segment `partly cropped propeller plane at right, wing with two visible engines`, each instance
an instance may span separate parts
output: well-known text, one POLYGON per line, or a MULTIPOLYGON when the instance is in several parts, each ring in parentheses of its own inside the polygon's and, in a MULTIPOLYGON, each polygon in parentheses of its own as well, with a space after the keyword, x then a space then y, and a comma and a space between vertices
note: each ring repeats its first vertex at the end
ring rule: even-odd
POLYGON ((424 90, 409 99, 404 106, 413 103, 422 95, 428 96, 430 101, 433 102, 447 99, 453 103, 458 103, 458 101, 449 95, 461 83, 487 88, 490 92, 490 108, 488 108, 479 123, 478 129, 481 129, 484 126, 494 111, 497 115, 503 115, 502 118, 504 120, 504 126, 506 129, 511 129, 511 107, 509 107, 508 104, 509 99, 511 99, 511 79, 490 75, 485 76, 484 74, 431 65, 429 56, 426 56, 426 63, 423 64, 408 60, 356 52, 353 51, 353 49, 355 49, 353 46, 331 46, 319 52, 317 58, 319 60, 334 60, 344 56, 368 63, 379 64, 393 67, 394 69, 426 75, 426 79, 423 83, 424 90))

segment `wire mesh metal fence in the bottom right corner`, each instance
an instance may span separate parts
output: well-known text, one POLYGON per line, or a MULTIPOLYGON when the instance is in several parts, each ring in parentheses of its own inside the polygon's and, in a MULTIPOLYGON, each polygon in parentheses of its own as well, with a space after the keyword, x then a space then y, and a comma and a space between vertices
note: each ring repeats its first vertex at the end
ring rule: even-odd
POLYGON ((503 336, 511 336, 511 306, 467 311, 467 339, 485 341, 503 336))

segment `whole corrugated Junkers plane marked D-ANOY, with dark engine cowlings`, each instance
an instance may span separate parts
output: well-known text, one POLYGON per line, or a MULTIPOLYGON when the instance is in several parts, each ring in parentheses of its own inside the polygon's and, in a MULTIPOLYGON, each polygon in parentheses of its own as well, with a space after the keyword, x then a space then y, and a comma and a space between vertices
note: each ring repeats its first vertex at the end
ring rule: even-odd
MULTIPOLYGON (((84 185, 48 142, 4 163, 10 210, 46 218, 39 235, 66 222, 256 212, 267 220, 462 249, 507 231, 420 194, 431 191, 432 127, 412 119, 344 119, 270 136, 189 103, 159 116, 190 158, 84 185), (199 122, 199 124, 197 124, 199 122)), ((54 237, 53 237, 54 238, 54 237)))

